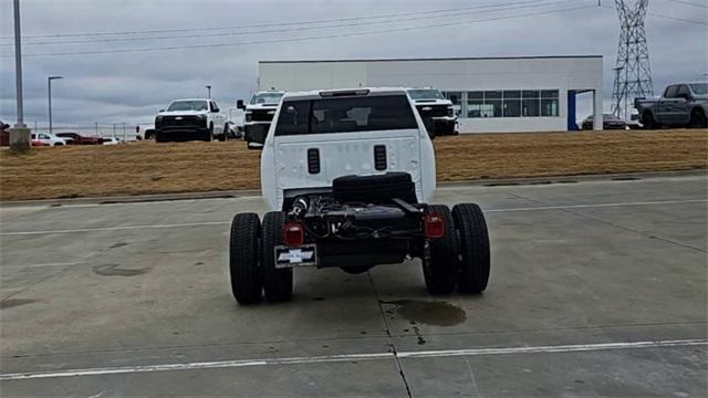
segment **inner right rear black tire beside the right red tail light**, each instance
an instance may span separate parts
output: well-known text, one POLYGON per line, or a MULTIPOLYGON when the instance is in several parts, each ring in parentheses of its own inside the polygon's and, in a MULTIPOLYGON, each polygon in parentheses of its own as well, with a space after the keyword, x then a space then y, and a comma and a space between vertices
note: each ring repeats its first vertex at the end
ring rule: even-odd
POLYGON ((439 214, 445 221, 445 235, 429 241, 429 258, 423 256, 423 275, 430 294, 450 294, 457 284, 457 237, 447 206, 428 206, 428 214, 439 214))

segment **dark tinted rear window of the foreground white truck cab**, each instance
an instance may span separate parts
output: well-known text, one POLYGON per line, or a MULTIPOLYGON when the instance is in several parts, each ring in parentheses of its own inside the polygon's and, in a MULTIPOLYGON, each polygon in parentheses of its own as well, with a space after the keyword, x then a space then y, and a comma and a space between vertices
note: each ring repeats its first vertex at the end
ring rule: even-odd
POLYGON ((285 101, 275 135, 418 128, 405 95, 285 101))

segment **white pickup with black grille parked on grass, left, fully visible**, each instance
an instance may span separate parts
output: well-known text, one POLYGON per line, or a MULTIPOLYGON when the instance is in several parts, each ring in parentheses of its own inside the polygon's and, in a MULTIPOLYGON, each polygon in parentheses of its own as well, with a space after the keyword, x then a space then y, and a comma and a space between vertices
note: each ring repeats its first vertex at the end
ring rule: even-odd
POLYGON ((227 116, 221 113, 214 100, 191 98, 173 101, 167 111, 155 116, 155 140, 200 139, 211 142, 214 138, 227 140, 227 116))

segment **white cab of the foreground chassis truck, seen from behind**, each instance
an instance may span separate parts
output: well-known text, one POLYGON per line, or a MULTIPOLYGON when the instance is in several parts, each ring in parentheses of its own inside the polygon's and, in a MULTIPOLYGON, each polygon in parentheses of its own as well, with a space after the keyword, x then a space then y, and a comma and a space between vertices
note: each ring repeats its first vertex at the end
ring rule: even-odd
MULTIPOLYGON (((388 171, 410 174, 418 201, 433 199, 433 143, 420 116, 410 112, 413 104, 405 92, 360 88, 288 93, 281 104, 261 155, 261 192, 271 210, 282 210, 293 190, 332 187, 335 178, 347 175, 388 171), (308 119, 310 112, 312 121, 308 119), (303 161, 303 154, 313 144, 319 172, 312 172, 311 165, 303 161)), ((314 153, 311 150, 311 158, 314 153)))

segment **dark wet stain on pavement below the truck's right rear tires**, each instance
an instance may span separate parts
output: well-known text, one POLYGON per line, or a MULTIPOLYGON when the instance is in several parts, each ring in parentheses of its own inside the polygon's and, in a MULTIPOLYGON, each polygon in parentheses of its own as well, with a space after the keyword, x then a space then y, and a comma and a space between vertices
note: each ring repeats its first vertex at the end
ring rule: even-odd
POLYGON ((397 300, 382 304, 395 305, 396 313, 410 321, 412 325, 454 326, 467 318, 465 310, 444 301, 397 300))

